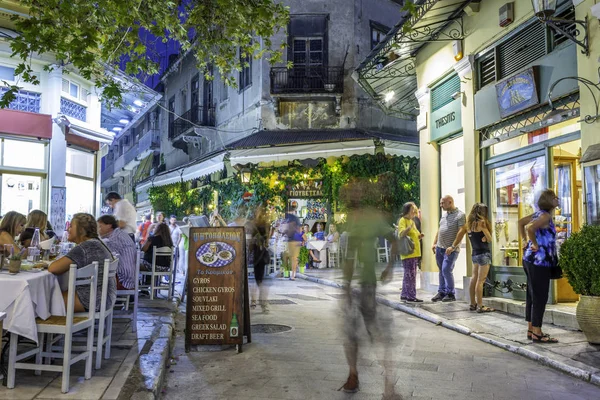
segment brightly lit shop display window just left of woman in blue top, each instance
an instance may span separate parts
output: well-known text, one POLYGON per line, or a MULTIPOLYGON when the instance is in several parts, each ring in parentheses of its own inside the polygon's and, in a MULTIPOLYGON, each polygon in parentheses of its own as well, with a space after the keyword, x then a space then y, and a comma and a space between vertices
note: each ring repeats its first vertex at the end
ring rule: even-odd
POLYGON ((536 195, 546 188, 546 158, 532 157, 490 170, 492 264, 521 265, 523 257, 518 221, 532 214, 536 195))

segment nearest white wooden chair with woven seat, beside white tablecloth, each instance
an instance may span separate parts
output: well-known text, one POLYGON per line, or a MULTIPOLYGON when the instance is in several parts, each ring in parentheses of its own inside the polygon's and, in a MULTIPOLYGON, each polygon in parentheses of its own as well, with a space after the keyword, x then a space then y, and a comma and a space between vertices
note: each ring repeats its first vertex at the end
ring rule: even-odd
POLYGON ((69 379, 71 376, 71 365, 85 359, 85 379, 92 377, 92 357, 94 347, 94 310, 96 309, 96 282, 98 279, 98 263, 92 264, 78 269, 77 265, 71 264, 69 269, 69 292, 67 295, 67 315, 57 316, 52 315, 46 320, 36 319, 38 330, 38 347, 17 354, 18 335, 11 333, 9 361, 8 361, 8 381, 7 387, 13 389, 15 387, 15 374, 17 369, 34 370, 36 375, 40 375, 41 371, 62 372, 63 393, 69 392, 69 379), (75 288, 77 286, 90 286, 90 311, 86 316, 76 317, 75 308, 75 288), (73 333, 87 329, 87 346, 85 351, 73 357, 72 354, 72 339, 73 333), (47 353, 43 351, 44 337, 46 334, 60 334, 65 336, 65 345, 62 353, 47 353), (36 355, 35 363, 21 363, 19 361, 36 355), (42 357, 61 358, 62 365, 46 365, 42 364, 42 357))

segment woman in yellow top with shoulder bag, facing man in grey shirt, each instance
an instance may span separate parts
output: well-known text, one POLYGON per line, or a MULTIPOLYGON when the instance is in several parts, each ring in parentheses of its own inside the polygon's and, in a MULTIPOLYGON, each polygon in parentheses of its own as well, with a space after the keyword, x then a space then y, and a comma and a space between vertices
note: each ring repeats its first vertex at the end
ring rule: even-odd
POLYGON ((422 303, 417 298, 417 267, 421 257, 421 244, 419 239, 423 237, 413 219, 418 209, 415 203, 408 202, 402 207, 402 217, 398 221, 398 238, 400 241, 400 259, 404 267, 404 278, 402 280, 401 300, 422 303), (412 246, 411 246, 412 242, 412 246), (412 248, 412 251, 411 251, 412 248))

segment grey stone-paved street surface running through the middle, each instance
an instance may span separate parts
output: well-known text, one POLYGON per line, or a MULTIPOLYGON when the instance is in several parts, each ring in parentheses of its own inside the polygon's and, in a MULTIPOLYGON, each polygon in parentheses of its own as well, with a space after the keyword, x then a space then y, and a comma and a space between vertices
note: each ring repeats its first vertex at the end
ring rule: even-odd
MULTIPOLYGON (((162 398, 381 399, 383 357, 368 340, 359 353, 360 392, 338 391, 348 374, 338 300, 342 291, 299 279, 269 281, 271 312, 251 311, 251 323, 255 329, 278 324, 291 330, 254 332, 241 354, 232 347, 208 346, 185 353, 185 309, 180 307, 162 398)), ((390 307, 380 305, 378 313, 394 323, 387 373, 405 400, 600 398, 600 388, 504 349, 390 307)))

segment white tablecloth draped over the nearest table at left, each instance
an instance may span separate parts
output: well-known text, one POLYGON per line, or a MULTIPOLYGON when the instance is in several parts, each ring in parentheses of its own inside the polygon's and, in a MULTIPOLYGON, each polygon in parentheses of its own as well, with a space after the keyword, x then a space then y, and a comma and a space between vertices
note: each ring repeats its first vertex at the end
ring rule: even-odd
POLYGON ((36 317, 65 315, 65 303, 56 276, 48 271, 0 272, 0 312, 6 313, 3 328, 37 343, 36 317))

